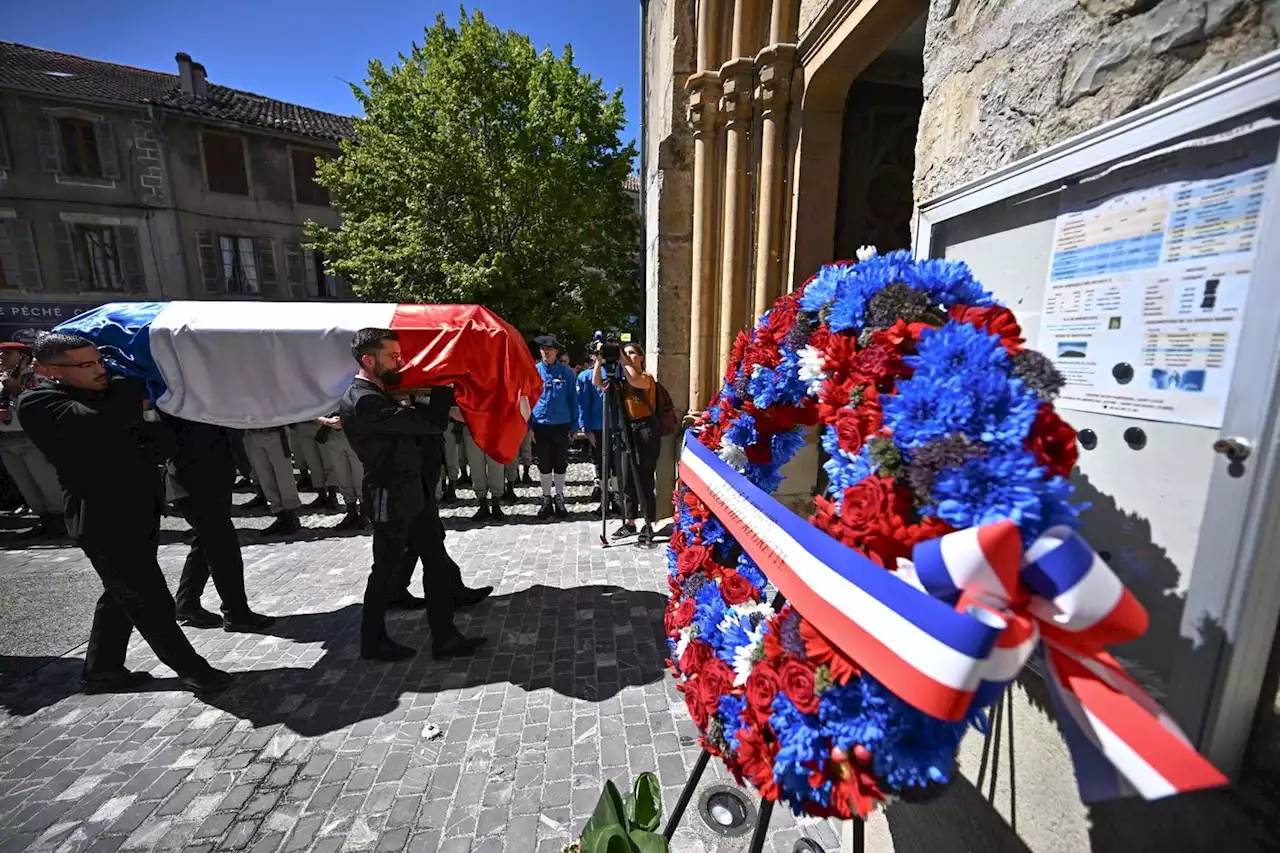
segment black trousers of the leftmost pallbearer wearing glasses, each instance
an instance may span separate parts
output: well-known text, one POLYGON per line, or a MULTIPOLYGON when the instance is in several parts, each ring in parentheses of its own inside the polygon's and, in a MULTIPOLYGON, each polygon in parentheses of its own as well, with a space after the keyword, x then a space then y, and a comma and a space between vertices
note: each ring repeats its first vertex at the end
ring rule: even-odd
POLYGON ((93 508, 79 507, 68 520, 104 588, 88 633, 84 676, 106 678, 123 670, 134 628, 178 675, 206 672, 209 662, 178 626, 173 596, 156 561, 159 512, 154 507, 148 515, 115 508, 93 515, 93 508))

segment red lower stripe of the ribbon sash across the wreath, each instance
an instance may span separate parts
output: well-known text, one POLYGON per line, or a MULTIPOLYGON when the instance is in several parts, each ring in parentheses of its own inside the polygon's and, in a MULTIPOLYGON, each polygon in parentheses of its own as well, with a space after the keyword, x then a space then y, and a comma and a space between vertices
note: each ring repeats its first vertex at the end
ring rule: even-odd
POLYGON ((737 539, 769 581, 831 640, 835 648, 849 654, 892 693, 920 711, 942 720, 964 719, 973 703, 972 692, 957 690, 934 681, 818 594, 778 553, 753 534, 742 519, 732 512, 686 462, 680 464, 680 478, 710 507, 719 523, 737 539))

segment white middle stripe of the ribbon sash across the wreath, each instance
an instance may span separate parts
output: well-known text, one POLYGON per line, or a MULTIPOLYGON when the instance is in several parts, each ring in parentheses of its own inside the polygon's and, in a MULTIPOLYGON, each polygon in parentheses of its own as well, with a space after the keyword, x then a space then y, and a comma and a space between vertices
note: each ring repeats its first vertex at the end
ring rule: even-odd
POLYGON ((982 680, 982 661, 942 643, 836 574, 755 505, 740 496, 696 453, 686 452, 680 461, 689 466, 690 471, 705 483, 756 538, 777 553, 804 584, 842 613, 856 613, 858 625, 863 630, 934 681, 956 690, 977 689, 982 680))

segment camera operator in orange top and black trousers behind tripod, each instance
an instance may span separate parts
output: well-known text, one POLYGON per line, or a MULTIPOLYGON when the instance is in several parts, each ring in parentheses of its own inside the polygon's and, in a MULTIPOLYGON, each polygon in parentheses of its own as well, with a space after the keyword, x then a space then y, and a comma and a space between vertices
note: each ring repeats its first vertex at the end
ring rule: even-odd
MULTIPOLYGON (((604 359, 599 352, 594 357, 591 382, 596 388, 614 391, 609 388, 609 383, 617 382, 617 378, 604 375, 604 359)), ((623 476, 626 494, 622 526, 613 533, 613 538, 625 539, 636 535, 636 519, 643 515, 640 544, 650 544, 657 515, 654 475, 662 438, 658 430, 658 380, 644 369, 644 350, 639 343, 628 342, 622 346, 621 368, 626 382, 622 388, 617 388, 618 394, 614 400, 621 398, 622 429, 627 430, 631 451, 628 455, 623 444, 618 453, 623 457, 622 464, 627 465, 623 476)))

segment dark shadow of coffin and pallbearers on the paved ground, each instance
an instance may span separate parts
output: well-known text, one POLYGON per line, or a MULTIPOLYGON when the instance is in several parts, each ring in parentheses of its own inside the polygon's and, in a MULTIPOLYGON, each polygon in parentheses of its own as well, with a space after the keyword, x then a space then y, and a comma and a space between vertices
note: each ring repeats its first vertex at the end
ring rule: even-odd
MULTIPOLYGON (((458 613, 458 626, 488 637, 489 646, 475 657, 439 662, 431 660, 425 613, 393 613, 390 635, 419 648, 417 657, 403 663, 374 663, 358 656, 360 605, 282 616, 270 635, 321 643, 324 656, 306 669, 239 672, 229 690, 205 702, 255 726, 283 724, 308 736, 384 717, 406 693, 511 683, 600 702, 623 688, 663 678, 664 606, 666 598, 654 592, 535 585, 458 613)), ((198 631, 188 635, 198 644, 198 631)), ((27 660, 40 666, 38 658, 27 660)), ((81 665, 79 658, 63 657, 40 666, 0 690, 0 707, 26 716, 78 693, 81 665)), ((22 661, 0 658, 0 671, 22 669, 22 661)), ((157 679, 151 692, 169 689, 178 689, 175 679, 157 679)))

